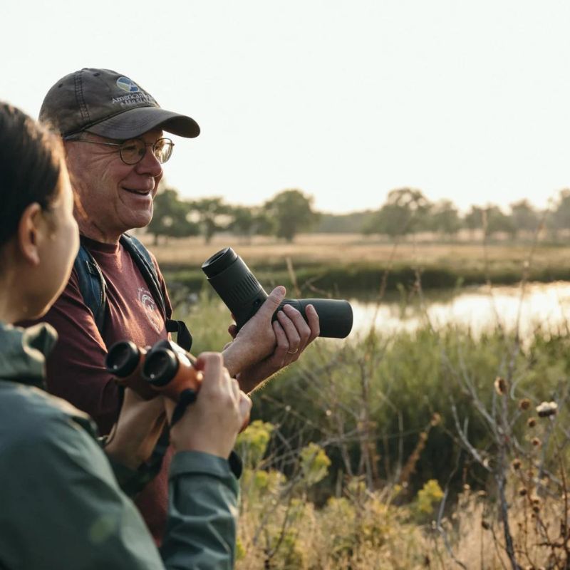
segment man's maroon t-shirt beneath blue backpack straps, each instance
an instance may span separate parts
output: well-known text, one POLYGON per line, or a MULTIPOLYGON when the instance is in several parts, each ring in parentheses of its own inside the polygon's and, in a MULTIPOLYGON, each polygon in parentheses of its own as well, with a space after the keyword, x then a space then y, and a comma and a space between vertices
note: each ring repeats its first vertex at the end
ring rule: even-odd
MULTIPOLYGON (((165 316, 150 294, 135 261, 120 244, 101 244, 82 238, 107 283, 107 311, 103 333, 83 302, 73 270, 66 289, 41 321, 53 325, 59 340, 46 362, 48 391, 87 412, 100 434, 110 432, 118 418, 119 395, 113 376, 105 371, 107 347, 128 339, 137 346, 152 346, 167 338, 165 316)), ((160 279, 167 314, 172 307, 164 279, 152 257, 160 279)), ((168 501, 168 467, 172 449, 155 480, 135 499, 152 536, 160 543, 165 529, 168 501)))

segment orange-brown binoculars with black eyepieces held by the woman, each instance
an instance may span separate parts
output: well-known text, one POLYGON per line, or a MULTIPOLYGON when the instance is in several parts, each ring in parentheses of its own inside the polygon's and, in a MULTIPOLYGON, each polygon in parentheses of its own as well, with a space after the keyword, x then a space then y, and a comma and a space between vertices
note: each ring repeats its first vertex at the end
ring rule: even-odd
POLYGON ((109 349, 105 360, 108 373, 119 385, 132 388, 144 400, 165 395, 178 401, 184 390, 197 392, 202 372, 193 358, 172 341, 158 341, 149 351, 131 341, 119 341, 109 349))

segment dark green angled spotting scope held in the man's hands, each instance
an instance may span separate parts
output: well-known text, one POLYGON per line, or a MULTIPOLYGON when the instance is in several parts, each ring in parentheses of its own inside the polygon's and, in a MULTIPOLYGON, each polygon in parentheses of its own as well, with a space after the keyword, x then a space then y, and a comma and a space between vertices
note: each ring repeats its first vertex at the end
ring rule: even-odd
MULTIPOLYGON (((209 284, 214 287, 224 304, 234 315, 237 329, 242 328, 268 295, 252 271, 231 247, 221 249, 202 264, 209 284)), ((348 301, 336 299, 283 299, 277 311, 291 305, 307 320, 305 308, 313 305, 320 324, 319 336, 346 338, 353 323, 352 307, 348 301)), ((273 320, 277 317, 277 311, 273 320)))

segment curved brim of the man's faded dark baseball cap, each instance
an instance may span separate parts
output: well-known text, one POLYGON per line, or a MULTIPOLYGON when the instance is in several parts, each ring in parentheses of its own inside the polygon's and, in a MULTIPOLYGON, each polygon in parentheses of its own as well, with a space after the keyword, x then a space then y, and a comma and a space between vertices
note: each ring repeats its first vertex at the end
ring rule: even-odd
POLYGON ((186 138, 194 138, 200 134, 198 123, 194 119, 160 107, 138 107, 126 110, 86 130, 101 137, 125 140, 139 137, 155 128, 186 138))

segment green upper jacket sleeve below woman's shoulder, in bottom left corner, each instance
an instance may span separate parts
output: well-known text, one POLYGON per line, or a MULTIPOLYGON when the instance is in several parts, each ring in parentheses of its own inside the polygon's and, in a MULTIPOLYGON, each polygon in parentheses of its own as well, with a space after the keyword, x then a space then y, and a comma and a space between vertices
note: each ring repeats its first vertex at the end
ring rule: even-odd
MULTIPOLYGON (((31 428, 34 426, 31 426, 31 428)), ((0 567, 163 570, 98 443, 64 415, 2 450, 0 567)))

